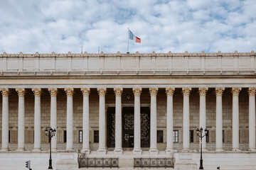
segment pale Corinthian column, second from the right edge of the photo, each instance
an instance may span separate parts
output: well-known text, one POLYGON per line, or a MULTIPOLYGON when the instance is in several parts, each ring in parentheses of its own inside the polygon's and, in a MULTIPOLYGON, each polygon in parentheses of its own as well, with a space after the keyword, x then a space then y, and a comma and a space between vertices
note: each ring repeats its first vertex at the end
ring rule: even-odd
POLYGON ((232 118, 232 141, 233 151, 240 151, 239 149, 239 92, 241 88, 233 87, 233 118, 232 118))

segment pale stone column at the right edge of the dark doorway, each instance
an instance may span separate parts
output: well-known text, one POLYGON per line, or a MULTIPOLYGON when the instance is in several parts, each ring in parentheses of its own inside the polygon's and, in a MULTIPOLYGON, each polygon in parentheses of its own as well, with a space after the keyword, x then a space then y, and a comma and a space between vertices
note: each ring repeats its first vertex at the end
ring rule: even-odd
POLYGON ((149 88, 150 93, 150 154, 158 154, 157 149, 157 116, 156 116, 156 95, 158 92, 158 88, 149 88))

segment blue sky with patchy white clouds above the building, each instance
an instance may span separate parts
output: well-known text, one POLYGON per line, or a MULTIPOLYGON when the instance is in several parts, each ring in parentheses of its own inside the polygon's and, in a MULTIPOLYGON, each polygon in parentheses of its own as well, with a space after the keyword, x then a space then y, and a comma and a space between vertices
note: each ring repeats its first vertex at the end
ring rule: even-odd
POLYGON ((0 0, 0 53, 256 51, 256 0, 0 0), (82 48, 81 48, 82 46, 82 48))

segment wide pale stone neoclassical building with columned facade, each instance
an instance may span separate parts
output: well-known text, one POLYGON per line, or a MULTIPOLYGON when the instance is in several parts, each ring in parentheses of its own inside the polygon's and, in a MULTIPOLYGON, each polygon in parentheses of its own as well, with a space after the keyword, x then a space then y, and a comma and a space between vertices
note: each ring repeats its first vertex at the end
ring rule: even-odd
POLYGON ((175 158, 175 169, 197 169, 202 127, 205 169, 256 169, 255 68, 254 51, 4 52, 0 167, 31 160, 46 169, 51 127, 54 169, 78 169, 80 155, 118 157, 120 168, 175 158))

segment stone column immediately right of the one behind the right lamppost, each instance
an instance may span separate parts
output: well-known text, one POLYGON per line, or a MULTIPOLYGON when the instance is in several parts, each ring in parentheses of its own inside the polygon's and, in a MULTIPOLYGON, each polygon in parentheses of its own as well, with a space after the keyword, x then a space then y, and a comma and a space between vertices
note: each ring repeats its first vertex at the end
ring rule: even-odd
POLYGON ((222 96, 225 88, 217 87, 216 94, 216 151, 223 151, 223 111, 222 96))

